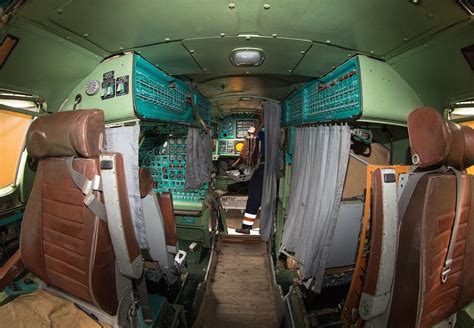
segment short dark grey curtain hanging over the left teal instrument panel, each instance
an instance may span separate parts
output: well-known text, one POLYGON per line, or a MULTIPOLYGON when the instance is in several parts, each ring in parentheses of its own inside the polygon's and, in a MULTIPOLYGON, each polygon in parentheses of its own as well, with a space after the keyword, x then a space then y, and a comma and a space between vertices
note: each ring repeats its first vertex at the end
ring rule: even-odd
POLYGON ((186 190, 199 189, 211 180, 212 143, 209 134, 190 128, 186 138, 186 190))

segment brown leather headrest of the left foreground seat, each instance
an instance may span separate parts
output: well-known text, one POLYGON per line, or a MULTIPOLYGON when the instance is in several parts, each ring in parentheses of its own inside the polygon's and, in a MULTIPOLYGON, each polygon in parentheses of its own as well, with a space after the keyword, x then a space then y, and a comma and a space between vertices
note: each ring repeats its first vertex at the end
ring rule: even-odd
POLYGON ((35 158, 97 157, 104 152, 104 112, 75 110, 43 116, 31 124, 26 149, 35 158))

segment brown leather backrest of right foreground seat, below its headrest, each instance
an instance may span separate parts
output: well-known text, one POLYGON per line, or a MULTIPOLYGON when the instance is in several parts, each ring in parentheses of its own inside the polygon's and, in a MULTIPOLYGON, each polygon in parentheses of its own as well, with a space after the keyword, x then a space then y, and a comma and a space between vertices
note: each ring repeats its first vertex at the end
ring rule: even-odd
POLYGON ((402 219, 389 327, 431 327, 474 298, 473 178, 463 175, 461 218, 448 280, 441 271, 454 223, 456 178, 423 177, 402 219))

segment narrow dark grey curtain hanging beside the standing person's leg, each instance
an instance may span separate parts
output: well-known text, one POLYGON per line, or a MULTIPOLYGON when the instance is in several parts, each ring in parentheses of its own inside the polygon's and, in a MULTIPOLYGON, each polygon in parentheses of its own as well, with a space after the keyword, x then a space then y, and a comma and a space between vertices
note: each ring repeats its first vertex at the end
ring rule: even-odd
POLYGON ((274 230, 277 174, 280 159, 280 104, 266 101, 265 115, 265 168, 263 172, 263 193, 260 213, 260 235, 268 241, 274 230))

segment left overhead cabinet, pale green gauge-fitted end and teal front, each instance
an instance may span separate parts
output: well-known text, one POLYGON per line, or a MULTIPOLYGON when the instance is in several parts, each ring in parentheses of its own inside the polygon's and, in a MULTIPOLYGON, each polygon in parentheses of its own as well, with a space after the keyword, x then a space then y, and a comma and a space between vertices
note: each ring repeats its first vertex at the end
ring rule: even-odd
POLYGON ((194 114, 211 121, 209 100, 187 81, 166 74, 134 52, 111 56, 97 65, 59 110, 73 108, 100 108, 108 123, 139 118, 197 126, 194 114), (76 98, 81 101, 75 103, 76 98))

